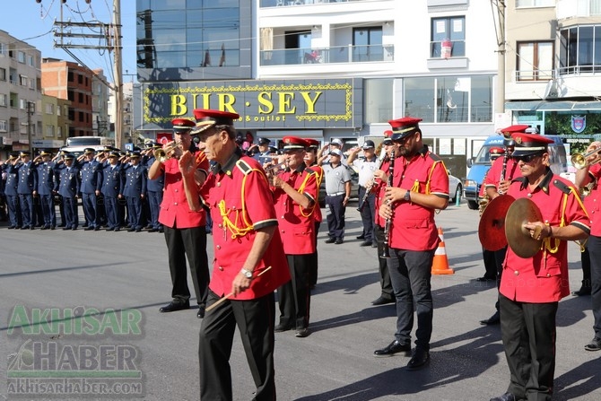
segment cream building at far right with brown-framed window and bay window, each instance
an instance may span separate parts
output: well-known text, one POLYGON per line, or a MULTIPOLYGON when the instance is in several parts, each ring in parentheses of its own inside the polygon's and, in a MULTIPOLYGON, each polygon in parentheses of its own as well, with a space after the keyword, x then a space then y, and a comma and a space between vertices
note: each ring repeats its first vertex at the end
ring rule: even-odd
POLYGON ((581 149, 601 133, 601 0, 507 5, 506 109, 581 149))

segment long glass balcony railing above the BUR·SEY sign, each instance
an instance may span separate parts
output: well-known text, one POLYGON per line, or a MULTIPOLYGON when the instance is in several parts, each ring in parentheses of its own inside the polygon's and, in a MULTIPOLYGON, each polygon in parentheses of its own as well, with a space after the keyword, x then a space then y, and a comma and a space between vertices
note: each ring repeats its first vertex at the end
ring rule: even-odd
POLYGON ((394 61, 393 45, 282 48, 261 51, 261 65, 300 65, 394 61))

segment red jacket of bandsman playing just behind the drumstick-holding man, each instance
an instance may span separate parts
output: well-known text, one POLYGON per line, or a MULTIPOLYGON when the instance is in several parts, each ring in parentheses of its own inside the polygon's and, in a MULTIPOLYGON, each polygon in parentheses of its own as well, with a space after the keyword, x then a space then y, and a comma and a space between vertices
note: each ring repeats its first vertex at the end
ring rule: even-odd
POLYGON ((286 255, 307 255, 315 252, 315 221, 313 212, 318 205, 318 178, 314 170, 300 164, 297 170, 285 170, 280 175, 283 181, 314 203, 308 209, 292 200, 282 188, 274 188, 275 214, 286 255))

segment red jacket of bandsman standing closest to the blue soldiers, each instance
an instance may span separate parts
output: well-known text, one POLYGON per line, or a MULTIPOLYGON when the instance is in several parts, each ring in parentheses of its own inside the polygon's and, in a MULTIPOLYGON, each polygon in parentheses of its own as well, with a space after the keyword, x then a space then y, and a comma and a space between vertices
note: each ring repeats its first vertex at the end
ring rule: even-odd
MULTIPOLYGON (((209 162, 202 152, 195 153, 196 168, 207 171, 209 162)), ((159 212, 159 222, 170 228, 189 229, 202 227, 206 224, 205 210, 190 210, 187 205, 184 182, 179 172, 179 160, 171 158, 166 160, 161 169, 165 171, 165 187, 159 212)))

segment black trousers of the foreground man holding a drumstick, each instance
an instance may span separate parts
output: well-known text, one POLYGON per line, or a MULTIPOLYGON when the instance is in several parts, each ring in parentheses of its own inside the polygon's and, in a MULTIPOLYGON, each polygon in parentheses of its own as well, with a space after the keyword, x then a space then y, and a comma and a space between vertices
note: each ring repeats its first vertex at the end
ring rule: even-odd
MULTIPOLYGON (((219 297, 209 291, 207 305, 219 297)), ((253 400, 274 401, 274 293, 248 301, 225 301, 207 312, 200 325, 198 361, 200 363, 200 399, 231 401, 231 344, 236 332, 247 356, 257 386, 253 400)))

